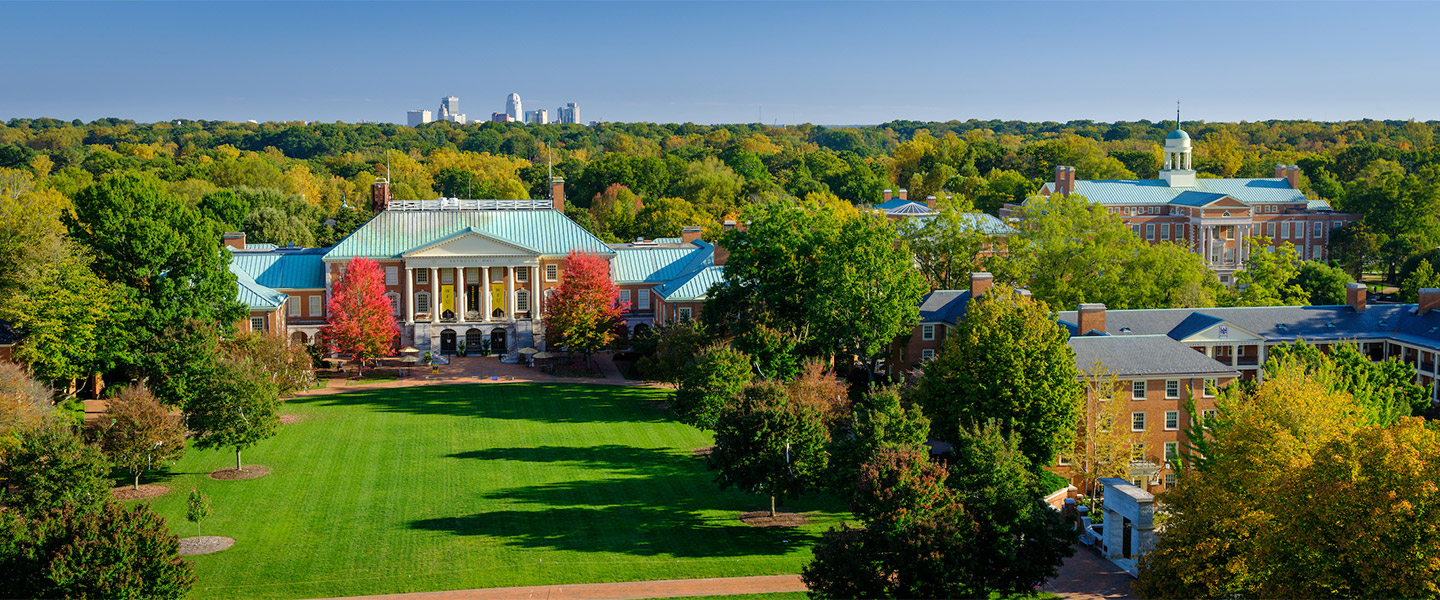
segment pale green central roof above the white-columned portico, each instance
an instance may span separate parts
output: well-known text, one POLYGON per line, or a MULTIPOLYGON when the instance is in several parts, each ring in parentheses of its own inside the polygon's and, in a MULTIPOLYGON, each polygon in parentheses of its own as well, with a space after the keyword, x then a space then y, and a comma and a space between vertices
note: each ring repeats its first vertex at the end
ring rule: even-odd
POLYGON ((467 229, 544 256, 615 253, 559 210, 386 210, 336 245, 325 260, 400 258, 467 229))

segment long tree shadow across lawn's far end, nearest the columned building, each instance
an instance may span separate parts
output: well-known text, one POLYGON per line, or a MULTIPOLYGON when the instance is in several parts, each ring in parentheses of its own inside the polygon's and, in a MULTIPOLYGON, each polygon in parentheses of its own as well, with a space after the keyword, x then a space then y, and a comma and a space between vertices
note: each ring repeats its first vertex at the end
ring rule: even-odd
POLYGON ((301 396, 291 404, 374 406, 410 414, 454 414, 541 423, 665 423, 654 410, 664 394, 642 387, 505 383, 392 387, 301 396))

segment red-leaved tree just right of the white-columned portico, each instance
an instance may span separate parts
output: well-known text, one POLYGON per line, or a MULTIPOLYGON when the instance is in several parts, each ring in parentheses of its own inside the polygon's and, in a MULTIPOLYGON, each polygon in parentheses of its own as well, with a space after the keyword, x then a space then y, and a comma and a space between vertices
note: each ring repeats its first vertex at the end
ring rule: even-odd
POLYGON ((615 340, 615 324, 625 305, 619 304, 621 291, 611 281, 611 263, 600 256, 570 252, 560 268, 564 281, 546 301, 546 329, 557 334, 572 353, 585 353, 589 368, 590 353, 615 340))

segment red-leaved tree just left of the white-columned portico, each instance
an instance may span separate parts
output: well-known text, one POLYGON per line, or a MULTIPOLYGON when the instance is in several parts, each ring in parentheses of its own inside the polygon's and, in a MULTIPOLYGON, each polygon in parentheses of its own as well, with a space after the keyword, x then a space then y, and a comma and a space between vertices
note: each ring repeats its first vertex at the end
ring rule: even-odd
POLYGON ((367 258, 353 258, 346 265, 344 276, 330 295, 328 314, 320 328, 325 348, 353 358, 361 367, 364 361, 387 354, 400 334, 390 299, 384 296, 380 263, 367 258))

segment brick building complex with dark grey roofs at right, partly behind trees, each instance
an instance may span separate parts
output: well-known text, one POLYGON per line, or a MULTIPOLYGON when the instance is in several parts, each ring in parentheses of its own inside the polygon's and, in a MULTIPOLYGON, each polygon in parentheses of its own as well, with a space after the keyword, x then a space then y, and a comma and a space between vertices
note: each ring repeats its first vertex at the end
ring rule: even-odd
MULTIPOLYGON (((897 370, 917 371, 933 358, 965 318, 972 298, 991 288, 989 273, 973 273, 971 289, 935 291, 920 302, 920 322, 897 341, 897 370)), ((1104 367, 1129 397, 1125 413, 1135 442, 1132 482, 1162 489, 1174 483, 1166 456, 1182 447, 1189 416, 1187 397, 1204 414, 1214 410, 1207 383, 1263 378, 1267 351, 1305 340, 1322 350, 1356 344, 1371 360, 1400 358, 1416 370, 1416 381, 1440 400, 1440 289, 1423 289, 1417 304, 1368 304, 1364 283, 1346 286, 1346 304, 1333 306, 1165 308, 1109 311, 1081 304, 1057 314, 1070 334, 1076 367, 1104 367)), ((1053 465, 1073 475, 1061 458, 1053 465)))

